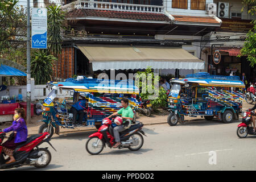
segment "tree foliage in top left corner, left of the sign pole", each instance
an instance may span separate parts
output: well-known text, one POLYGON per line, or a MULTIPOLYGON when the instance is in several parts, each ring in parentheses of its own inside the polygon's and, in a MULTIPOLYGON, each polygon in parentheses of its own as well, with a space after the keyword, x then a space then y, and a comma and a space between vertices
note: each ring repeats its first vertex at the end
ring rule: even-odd
POLYGON ((17 3, 18 0, 0 2, 0 52, 20 47, 19 40, 26 37, 26 14, 17 3))

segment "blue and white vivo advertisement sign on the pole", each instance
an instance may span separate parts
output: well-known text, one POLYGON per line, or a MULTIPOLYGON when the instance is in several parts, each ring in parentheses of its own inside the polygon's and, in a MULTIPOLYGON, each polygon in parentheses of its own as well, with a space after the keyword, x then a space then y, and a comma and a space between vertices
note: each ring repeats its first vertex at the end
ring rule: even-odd
POLYGON ((32 48, 47 48, 47 9, 32 8, 32 48))

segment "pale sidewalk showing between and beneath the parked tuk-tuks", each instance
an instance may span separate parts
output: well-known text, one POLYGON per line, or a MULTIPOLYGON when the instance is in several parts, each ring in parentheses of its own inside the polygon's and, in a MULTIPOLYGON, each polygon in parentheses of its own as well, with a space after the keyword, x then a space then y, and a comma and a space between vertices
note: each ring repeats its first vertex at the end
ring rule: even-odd
MULTIPOLYGON (((243 102, 243 111, 253 107, 251 104, 247 104, 247 102, 243 102)), ((142 122, 144 126, 147 125, 156 125, 167 123, 168 112, 164 110, 160 110, 159 114, 153 114, 151 117, 146 117, 144 115, 137 115, 137 121, 142 122)), ((241 118, 241 116, 240 116, 241 118)), ((43 122, 38 122, 40 119, 43 119, 42 115, 36 115, 32 118, 32 124, 27 125, 28 127, 28 136, 38 134, 39 127, 43 124, 43 122)), ((185 117, 185 121, 197 121, 204 118, 201 117, 185 117)), ((5 129, 9 127, 11 123, 9 122, 8 125, 0 125, 0 129, 5 129)), ((63 133, 72 133, 72 132, 81 132, 81 131, 92 131, 96 130, 96 127, 80 127, 77 129, 61 129, 60 127, 60 135, 63 133)), ((56 135, 56 134, 54 134, 56 135)), ((56 135, 57 136, 57 135, 56 135)))

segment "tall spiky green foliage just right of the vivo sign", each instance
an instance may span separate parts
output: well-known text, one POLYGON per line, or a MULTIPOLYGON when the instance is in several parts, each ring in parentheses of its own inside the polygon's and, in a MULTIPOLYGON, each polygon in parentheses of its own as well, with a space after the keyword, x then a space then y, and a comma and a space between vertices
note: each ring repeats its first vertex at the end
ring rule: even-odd
POLYGON ((51 55, 59 55, 61 53, 61 28, 64 28, 65 13, 60 6, 49 5, 47 7, 47 25, 48 25, 48 53, 51 55))

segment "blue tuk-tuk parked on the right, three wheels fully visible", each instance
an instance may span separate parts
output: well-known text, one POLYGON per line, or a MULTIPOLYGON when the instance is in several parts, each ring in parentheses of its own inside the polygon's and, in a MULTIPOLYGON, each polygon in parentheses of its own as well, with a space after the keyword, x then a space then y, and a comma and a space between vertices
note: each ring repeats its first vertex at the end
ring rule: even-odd
POLYGON ((209 75, 199 72, 185 78, 170 80, 172 84, 168 96, 167 122, 170 126, 183 123, 184 116, 205 118, 216 117, 219 121, 230 123, 238 119, 242 111, 245 85, 238 76, 209 75))

